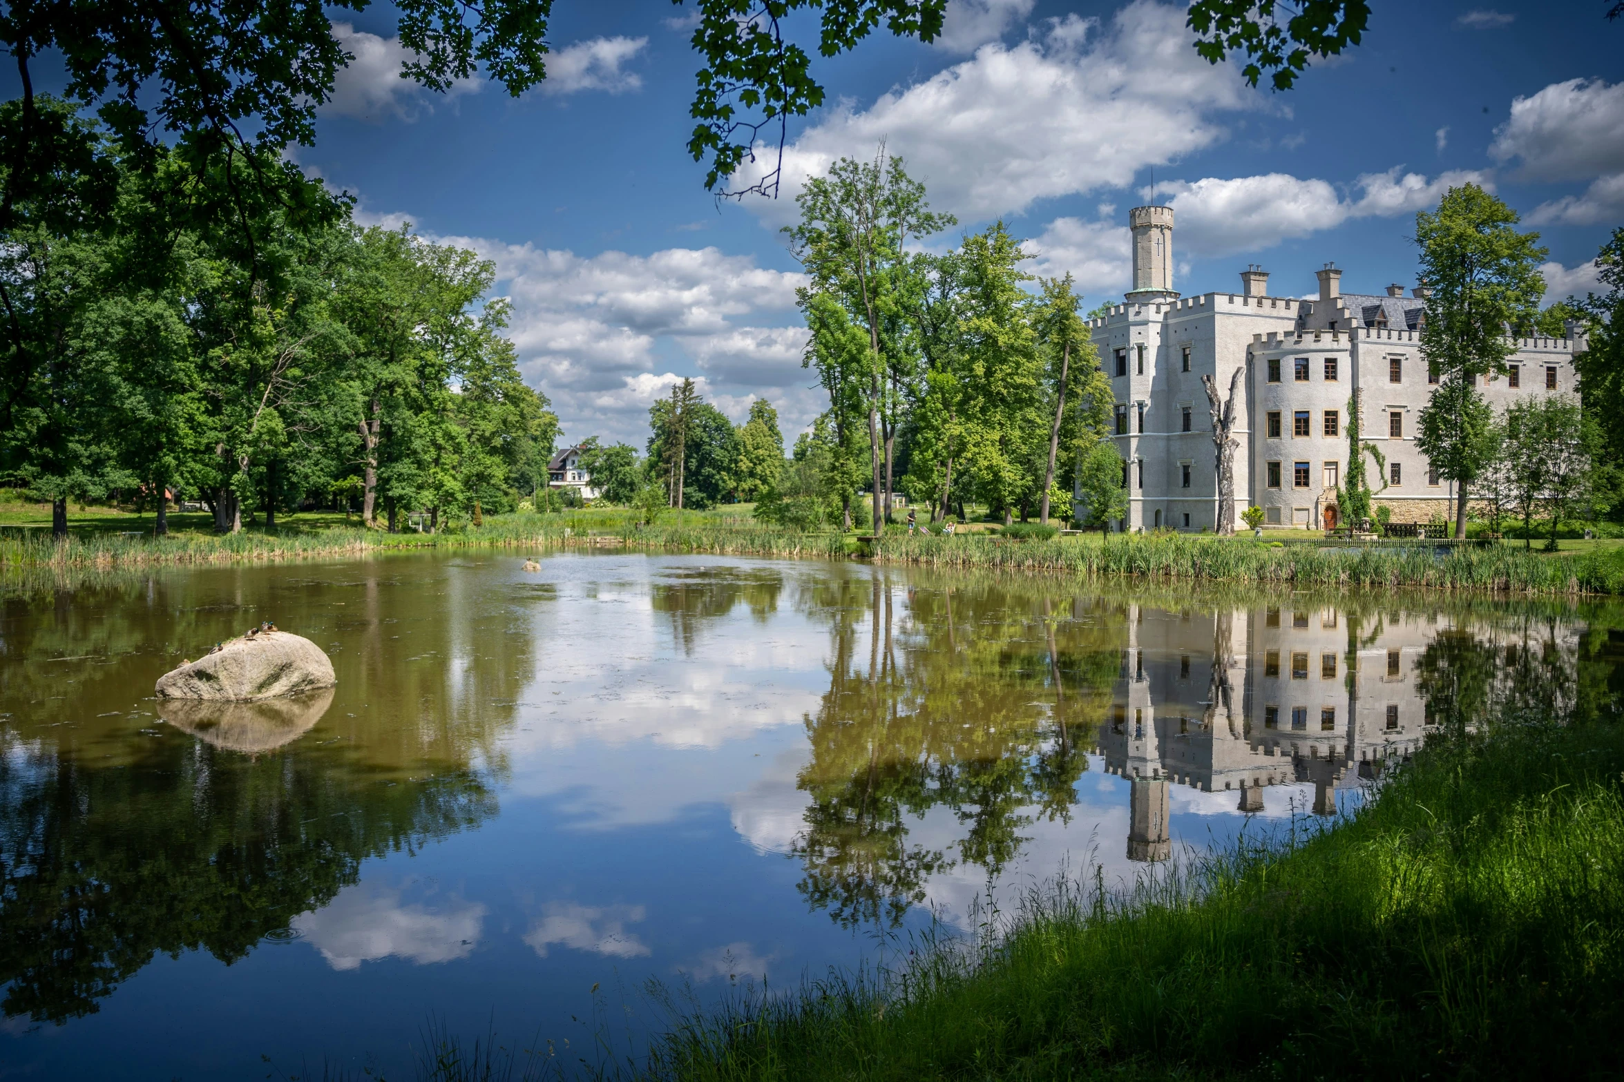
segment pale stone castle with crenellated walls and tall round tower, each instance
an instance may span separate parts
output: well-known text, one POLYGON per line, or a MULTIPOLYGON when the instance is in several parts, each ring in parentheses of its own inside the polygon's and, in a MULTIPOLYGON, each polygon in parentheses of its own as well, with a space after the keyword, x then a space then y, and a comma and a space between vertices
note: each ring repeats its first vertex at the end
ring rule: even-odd
MULTIPOLYGON (((1389 286, 1384 295, 1343 294, 1341 271, 1319 271, 1319 298, 1268 294, 1268 273, 1249 266, 1239 292, 1181 297, 1173 289, 1173 208, 1129 211, 1134 289, 1090 321, 1111 376, 1116 444, 1129 513, 1119 530, 1213 529, 1218 509, 1213 423, 1202 376, 1236 410, 1234 526, 1247 506, 1267 526, 1337 526, 1337 487, 1348 469, 1348 414, 1361 401, 1361 440, 1385 457, 1376 506, 1393 522, 1450 519, 1450 482, 1416 446, 1421 407, 1437 373, 1421 355, 1427 290, 1389 286), (1385 485, 1385 487, 1384 487, 1385 485)), ((1522 337, 1507 375, 1481 389, 1496 410, 1522 394, 1575 393, 1572 337, 1522 337)), ((1080 505, 1080 495, 1073 493, 1080 505)))

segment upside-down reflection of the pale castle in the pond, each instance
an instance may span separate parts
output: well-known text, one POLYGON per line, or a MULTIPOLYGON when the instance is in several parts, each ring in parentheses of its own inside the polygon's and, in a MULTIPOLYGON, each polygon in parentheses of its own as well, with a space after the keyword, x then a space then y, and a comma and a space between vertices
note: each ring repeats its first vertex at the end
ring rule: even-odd
POLYGON ((1437 613, 1130 605, 1127 616, 1095 753, 1132 784, 1129 860, 1171 855, 1171 785, 1233 792, 1239 811, 1260 813, 1272 785, 1311 782, 1314 813, 1333 814, 1338 788, 1377 779, 1436 728, 1418 663, 1437 613))

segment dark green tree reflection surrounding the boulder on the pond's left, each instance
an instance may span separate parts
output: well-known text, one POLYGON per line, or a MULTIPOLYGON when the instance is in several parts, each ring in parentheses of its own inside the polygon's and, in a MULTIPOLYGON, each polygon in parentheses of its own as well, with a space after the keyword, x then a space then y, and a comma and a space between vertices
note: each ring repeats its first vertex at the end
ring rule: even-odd
POLYGON ((159 952, 229 965, 356 882, 365 858, 495 814, 529 621, 463 595, 474 587, 455 568, 434 571, 193 571, 0 602, 0 701, 16 712, 0 727, 8 1017, 91 1014, 159 952), (141 689, 261 613, 351 633, 320 720, 158 725, 141 689), (174 654, 154 654, 161 642, 174 654))

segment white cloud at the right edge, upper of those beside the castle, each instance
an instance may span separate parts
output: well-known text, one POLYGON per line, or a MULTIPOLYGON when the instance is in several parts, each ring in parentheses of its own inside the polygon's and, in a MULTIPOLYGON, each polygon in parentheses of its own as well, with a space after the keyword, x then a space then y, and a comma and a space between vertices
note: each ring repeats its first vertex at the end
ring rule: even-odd
POLYGON ((1489 156, 1520 161, 1525 180, 1592 180, 1624 172, 1624 83, 1567 79, 1512 101, 1489 156))

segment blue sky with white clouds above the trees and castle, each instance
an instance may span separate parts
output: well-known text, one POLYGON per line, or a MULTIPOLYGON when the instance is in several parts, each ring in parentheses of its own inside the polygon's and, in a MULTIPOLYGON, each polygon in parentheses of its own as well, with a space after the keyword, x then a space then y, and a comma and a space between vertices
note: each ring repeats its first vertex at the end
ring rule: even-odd
MULTIPOLYGON (((1553 294, 1583 292, 1624 224, 1624 23, 1601 0, 1392 3, 1364 44, 1298 88, 1250 91, 1189 45, 1179 5, 952 0, 935 45, 885 36, 817 67, 830 105, 794 123, 789 188, 719 204, 684 144, 698 60, 692 8, 559 0, 547 84, 432 96, 398 78, 393 13, 341 24, 357 54, 297 161, 359 200, 497 261, 526 378, 565 436, 641 446, 684 375, 736 419, 752 397, 786 433, 820 393, 801 368, 797 268, 778 227, 794 178, 883 138, 960 229, 1004 217, 1028 268, 1072 271, 1086 305, 1127 287, 1127 209, 1174 206, 1174 287, 1270 292, 1413 284, 1415 211, 1491 185, 1551 250, 1553 294)), ((950 242, 952 237, 944 237, 950 242)))

